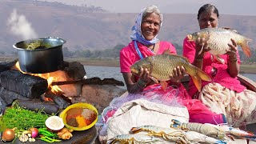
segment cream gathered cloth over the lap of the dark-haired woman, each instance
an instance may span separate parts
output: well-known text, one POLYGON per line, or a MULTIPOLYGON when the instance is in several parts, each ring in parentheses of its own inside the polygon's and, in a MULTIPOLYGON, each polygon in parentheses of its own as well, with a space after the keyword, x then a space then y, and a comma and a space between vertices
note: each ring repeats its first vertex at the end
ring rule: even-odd
POLYGON ((225 114, 228 124, 234 127, 256 122, 256 93, 234 90, 212 82, 204 86, 199 94, 199 100, 216 114, 225 114))

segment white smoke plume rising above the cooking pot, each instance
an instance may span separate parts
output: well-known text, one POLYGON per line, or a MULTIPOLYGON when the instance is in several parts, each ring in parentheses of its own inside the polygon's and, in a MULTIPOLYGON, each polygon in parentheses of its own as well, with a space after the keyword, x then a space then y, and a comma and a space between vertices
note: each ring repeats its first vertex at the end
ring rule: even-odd
POLYGON ((14 9, 7 20, 7 26, 10 27, 10 32, 23 39, 37 38, 38 34, 32 28, 30 22, 26 20, 25 15, 18 15, 14 9))

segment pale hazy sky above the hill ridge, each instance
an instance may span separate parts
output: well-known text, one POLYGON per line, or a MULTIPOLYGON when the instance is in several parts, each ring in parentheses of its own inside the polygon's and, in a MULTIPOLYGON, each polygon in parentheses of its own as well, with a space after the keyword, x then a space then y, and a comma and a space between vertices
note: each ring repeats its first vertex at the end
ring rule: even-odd
POLYGON ((70 5, 99 6, 113 13, 138 13, 142 8, 156 5, 162 13, 197 14, 199 8, 214 4, 219 14, 256 15, 256 0, 39 0, 70 5))

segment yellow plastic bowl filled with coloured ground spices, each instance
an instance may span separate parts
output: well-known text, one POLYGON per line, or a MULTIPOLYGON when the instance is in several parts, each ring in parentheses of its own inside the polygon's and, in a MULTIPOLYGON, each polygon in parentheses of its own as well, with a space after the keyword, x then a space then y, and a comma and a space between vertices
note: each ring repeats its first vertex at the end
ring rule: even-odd
POLYGON ((74 103, 59 115, 71 130, 88 130, 98 121, 98 110, 89 103, 74 103))

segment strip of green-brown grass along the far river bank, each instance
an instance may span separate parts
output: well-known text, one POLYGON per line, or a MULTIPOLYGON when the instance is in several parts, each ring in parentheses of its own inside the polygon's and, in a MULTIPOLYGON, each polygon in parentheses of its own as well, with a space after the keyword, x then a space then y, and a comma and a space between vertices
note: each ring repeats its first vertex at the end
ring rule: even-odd
MULTIPOLYGON (((0 57, 1 61, 12 61, 14 57, 0 57)), ((90 59, 90 58, 64 58, 66 62, 81 62, 85 66, 111 66, 119 67, 119 61, 117 59, 90 59)), ((256 74, 256 63, 242 64, 240 66, 241 74, 256 74)))

